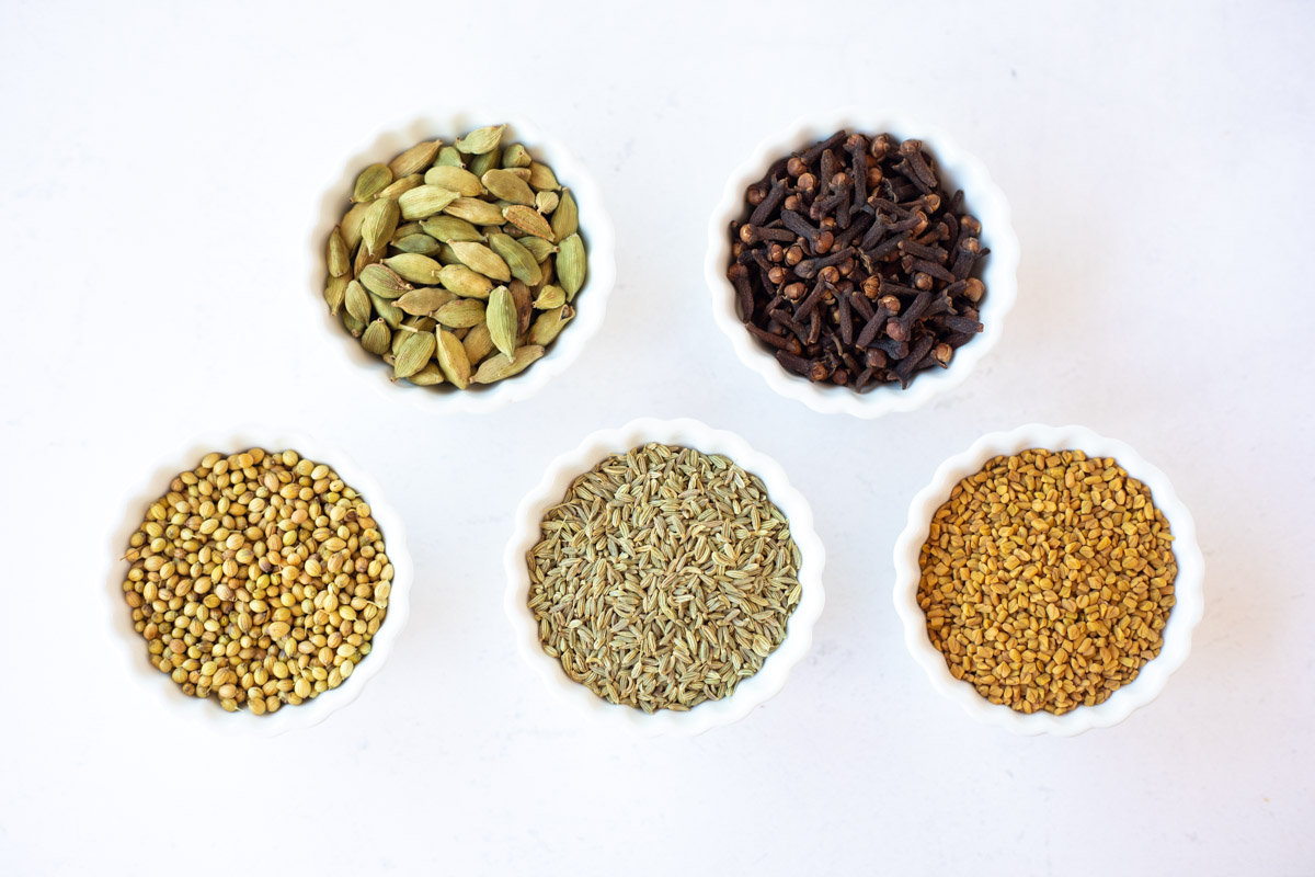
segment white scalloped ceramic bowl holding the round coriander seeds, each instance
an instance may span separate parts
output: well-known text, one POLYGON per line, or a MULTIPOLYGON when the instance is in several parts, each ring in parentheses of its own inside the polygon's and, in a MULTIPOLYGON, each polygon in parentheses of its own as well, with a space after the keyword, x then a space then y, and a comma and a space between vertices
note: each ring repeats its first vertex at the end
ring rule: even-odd
MULTIPOLYGON (((145 480, 141 492, 120 504, 121 519, 109 538, 108 555, 112 559, 109 579, 105 585, 107 630, 114 640, 107 653, 122 664, 122 676, 151 692, 159 706, 162 718, 171 717, 185 722, 188 727, 204 727, 226 736, 277 736, 296 728, 320 724, 329 715, 347 706, 364 690, 388 661, 397 638, 406 626, 410 614, 410 585, 416 577, 410 552, 406 550, 406 531, 401 517, 384 501, 379 484, 360 469, 346 454, 310 437, 297 433, 281 433, 264 429, 242 429, 231 433, 217 433, 193 440, 172 462, 160 464, 145 480), (277 713, 255 715, 242 709, 225 713, 214 698, 189 697, 167 675, 155 669, 147 659, 146 640, 133 630, 132 610, 124 601, 124 579, 128 561, 120 560, 128 550, 128 540, 141 526, 142 517, 151 504, 168 490, 170 481, 179 472, 196 468, 203 456, 212 451, 237 454, 251 447, 267 451, 292 448, 304 458, 325 463, 342 480, 354 486, 370 502, 373 518, 384 534, 388 559, 393 563, 393 589, 388 598, 388 618, 379 626, 379 632, 371 640, 370 655, 356 665, 350 677, 338 688, 297 706, 284 706, 277 713)), ((128 684, 125 681, 125 684, 128 684)))

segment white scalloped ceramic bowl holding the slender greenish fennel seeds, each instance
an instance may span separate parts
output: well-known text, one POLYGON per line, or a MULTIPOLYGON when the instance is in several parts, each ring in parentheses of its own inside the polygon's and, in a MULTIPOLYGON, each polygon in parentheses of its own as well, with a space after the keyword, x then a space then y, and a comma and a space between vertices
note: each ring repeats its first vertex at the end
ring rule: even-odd
POLYGON ((544 685, 580 717, 580 721, 596 722, 600 726, 629 730, 646 736, 694 736, 711 727, 738 722, 748 715, 755 706, 772 698, 781 690, 790 671, 803 659, 813 644, 813 626, 817 623, 818 615, 822 614, 822 605, 826 602, 826 594, 822 590, 822 567, 826 564, 826 551, 822 547, 822 539, 813 529, 813 510, 803 494, 790 485, 785 469, 772 458, 755 451, 739 435, 714 430, 688 418, 673 421, 640 418, 626 423, 619 430, 601 430, 589 435, 573 451, 552 460, 543 480, 517 508, 515 533, 506 546, 504 564, 508 580, 504 609, 515 630, 517 648, 525 661, 539 675, 544 685), (764 661, 763 668, 742 681, 730 697, 719 701, 705 701, 688 711, 658 710, 648 714, 631 706, 610 703, 584 685, 572 681, 562 671, 562 665, 543 651, 539 643, 539 626, 526 605, 530 593, 526 555, 542 538, 539 523, 543 521, 543 513, 562 502, 562 497, 571 484, 604 458, 625 454, 633 447, 650 442, 692 447, 704 454, 722 454, 747 472, 760 477, 767 485, 772 502, 789 519, 790 535, 803 556, 803 565, 800 569, 803 596, 790 615, 785 640, 764 661))

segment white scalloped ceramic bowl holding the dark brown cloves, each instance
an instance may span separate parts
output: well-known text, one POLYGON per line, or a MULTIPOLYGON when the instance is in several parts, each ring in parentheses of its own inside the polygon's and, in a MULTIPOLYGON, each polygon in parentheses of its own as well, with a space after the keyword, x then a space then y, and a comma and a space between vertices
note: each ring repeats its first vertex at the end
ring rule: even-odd
POLYGON ((852 414, 853 417, 880 417, 890 412, 911 412, 938 393, 957 387, 973 371, 1005 330, 1005 317, 1018 296, 1018 237, 1010 220, 1009 201, 990 179, 985 166, 955 145, 945 134, 910 122, 898 116, 861 109, 830 112, 801 118, 788 130, 768 137, 748 159, 736 167, 726 180, 722 199, 713 209, 707 224, 707 256, 704 276, 713 293, 713 317, 721 326, 739 360, 760 373, 773 391, 803 402, 822 414, 852 414), (964 191, 967 210, 982 224, 982 246, 990 255, 982 263, 982 331, 977 338, 955 351, 945 369, 932 368, 919 372, 909 389, 874 387, 856 393, 848 387, 814 384, 806 377, 792 375, 776 362, 775 351, 756 341, 744 329, 735 302, 735 288, 726 279, 731 262, 730 224, 744 210, 744 189, 756 183, 772 162, 830 137, 840 129, 864 134, 889 133, 901 139, 915 137, 923 141, 936 159, 936 167, 949 192, 964 191))

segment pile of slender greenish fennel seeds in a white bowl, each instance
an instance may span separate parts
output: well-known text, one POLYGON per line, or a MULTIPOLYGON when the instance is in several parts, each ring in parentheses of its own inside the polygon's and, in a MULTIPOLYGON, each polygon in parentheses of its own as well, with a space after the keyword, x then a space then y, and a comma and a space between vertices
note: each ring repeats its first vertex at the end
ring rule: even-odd
POLYGON ((527 556, 529 606, 572 680, 646 713, 729 697, 785 639, 800 550, 753 475, 644 444, 576 479, 527 556))

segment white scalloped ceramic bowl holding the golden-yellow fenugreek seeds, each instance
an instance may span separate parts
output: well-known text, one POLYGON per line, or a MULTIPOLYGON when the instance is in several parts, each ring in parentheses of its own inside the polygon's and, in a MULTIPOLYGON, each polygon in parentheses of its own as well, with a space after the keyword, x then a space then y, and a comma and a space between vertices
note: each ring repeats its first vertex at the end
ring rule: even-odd
POLYGON ((1173 485, 1160 469, 1147 463, 1131 446, 1116 439, 1097 435, 1085 426, 1043 426, 1028 423, 1009 433, 989 433, 963 454, 940 464, 931 484, 914 497, 909 506, 909 523, 896 542, 896 611, 905 626, 905 644, 914 660, 922 664, 938 692, 959 703, 973 718, 995 724, 1015 734, 1053 734, 1073 736, 1090 728, 1110 727, 1128 718, 1134 710, 1145 706, 1164 689, 1169 676, 1182 667, 1191 651, 1191 631, 1205 610, 1202 577, 1205 559, 1197 546, 1197 525, 1187 508, 1173 492, 1173 485), (1114 692, 1098 706, 1080 706, 1064 715, 1053 713, 1019 713, 1009 706, 992 703, 969 684, 951 675, 945 656, 927 636, 927 617, 918 606, 918 584, 922 567, 918 561, 922 544, 927 540, 931 519, 936 509, 949 498, 949 492, 960 480, 981 471, 988 460, 1001 455, 1018 454, 1030 448, 1052 451, 1080 450, 1088 456, 1112 456, 1128 475, 1151 489, 1152 500, 1164 513, 1173 533, 1173 554, 1178 563, 1174 580, 1177 602, 1169 613, 1164 628, 1164 647, 1160 655, 1145 664, 1137 677, 1114 692))

